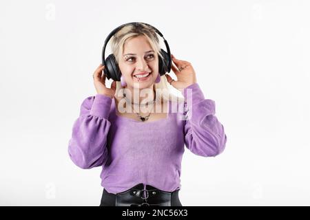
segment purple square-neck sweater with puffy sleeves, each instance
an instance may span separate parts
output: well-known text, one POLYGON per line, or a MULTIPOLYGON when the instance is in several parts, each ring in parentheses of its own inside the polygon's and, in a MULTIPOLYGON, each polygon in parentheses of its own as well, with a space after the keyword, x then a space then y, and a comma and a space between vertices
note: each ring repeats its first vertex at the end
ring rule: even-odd
MULTIPOLYGON (((70 158, 83 169, 102 166, 101 186, 110 193, 123 192, 136 184, 148 184, 172 192, 180 189, 181 161, 186 146, 203 157, 220 154, 227 141, 223 125, 215 114, 215 102, 205 99, 197 83, 192 104, 181 120, 171 111, 167 118, 139 122, 116 115, 114 99, 96 94, 85 98, 69 141, 70 158)), ((183 105, 184 106, 184 105, 183 105)))

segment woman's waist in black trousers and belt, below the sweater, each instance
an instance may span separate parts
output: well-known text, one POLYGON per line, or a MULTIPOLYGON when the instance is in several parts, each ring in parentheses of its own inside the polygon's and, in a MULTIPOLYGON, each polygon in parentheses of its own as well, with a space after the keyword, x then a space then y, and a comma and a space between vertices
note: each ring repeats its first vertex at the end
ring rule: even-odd
POLYGON ((151 185, 137 184, 114 194, 104 188, 100 206, 182 206, 178 191, 167 192, 151 185))

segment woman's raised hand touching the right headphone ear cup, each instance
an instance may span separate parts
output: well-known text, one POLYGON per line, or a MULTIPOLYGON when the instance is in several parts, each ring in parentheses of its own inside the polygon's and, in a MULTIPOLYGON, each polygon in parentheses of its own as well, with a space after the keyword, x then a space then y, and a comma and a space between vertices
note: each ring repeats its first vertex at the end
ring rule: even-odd
MULTIPOLYGON (((172 55, 172 54, 171 54, 172 55)), ((173 80, 171 76, 165 74, 167 81, 176 89, 185 89, 189 85, 197 82, 196 73, 192 64, 187 61, 178 60, 172 55, 172 71, 176 74, 178 80, 173 80), (174 66, 176 65, 176 67, 174 66)))

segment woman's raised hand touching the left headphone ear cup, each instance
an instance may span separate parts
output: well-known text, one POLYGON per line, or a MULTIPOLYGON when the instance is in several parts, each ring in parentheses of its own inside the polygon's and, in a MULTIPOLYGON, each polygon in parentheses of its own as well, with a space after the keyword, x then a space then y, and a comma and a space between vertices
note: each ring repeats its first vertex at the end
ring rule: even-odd
POLYGON ((116 81, 113 81, 111 84, 111 89, 105 87, 105 74, 103 73, 103 69, 105 69, 104 65, 99 65, 93 74, 94 78, 94 86, 98 94, 102 94, 105 96, 109 96, 110 98, 114 98, 116 91, 116 81))

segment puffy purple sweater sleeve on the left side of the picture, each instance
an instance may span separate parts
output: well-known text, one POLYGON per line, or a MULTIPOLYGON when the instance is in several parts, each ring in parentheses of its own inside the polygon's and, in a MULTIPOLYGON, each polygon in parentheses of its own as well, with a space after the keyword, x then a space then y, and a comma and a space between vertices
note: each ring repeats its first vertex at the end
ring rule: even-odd
POLYGON ((105 164, 111 103, 112 98, 101 94, 83 100, 68 146, 69 156, 76 166, 89 169, 105 164))

